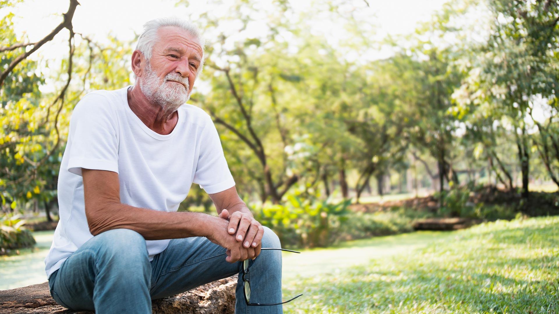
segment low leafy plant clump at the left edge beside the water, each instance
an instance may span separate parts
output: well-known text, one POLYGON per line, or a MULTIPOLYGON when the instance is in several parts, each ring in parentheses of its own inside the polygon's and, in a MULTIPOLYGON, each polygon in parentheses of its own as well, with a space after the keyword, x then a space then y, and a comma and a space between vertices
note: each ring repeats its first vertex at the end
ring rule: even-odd
POLYGON ((23 226, 25 222, 17 215, 3 215, 0 218, 0 255, 35 245, 31 231, 23 226))

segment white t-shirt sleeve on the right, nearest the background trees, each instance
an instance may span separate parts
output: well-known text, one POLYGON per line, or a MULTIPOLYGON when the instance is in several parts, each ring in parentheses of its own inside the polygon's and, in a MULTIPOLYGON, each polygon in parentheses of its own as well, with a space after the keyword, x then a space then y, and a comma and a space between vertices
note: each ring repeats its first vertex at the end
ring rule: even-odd
POLYGON ((235 180, 225 160, 214 122, 209 116, 201 132, 200 141, 200 154, 193 182, 200 184, 208 194, 233 187, 235 180))

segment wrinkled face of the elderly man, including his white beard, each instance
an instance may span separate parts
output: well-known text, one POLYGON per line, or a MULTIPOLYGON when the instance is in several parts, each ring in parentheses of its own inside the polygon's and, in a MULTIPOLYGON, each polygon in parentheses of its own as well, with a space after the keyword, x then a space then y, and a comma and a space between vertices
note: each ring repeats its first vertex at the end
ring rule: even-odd
POLYGON ((140 87, 160 106, 178 108, 190 97, 201 65, 202 47, 196 37, 178 27, 162 27, 151 59, 146 60, 140 87))

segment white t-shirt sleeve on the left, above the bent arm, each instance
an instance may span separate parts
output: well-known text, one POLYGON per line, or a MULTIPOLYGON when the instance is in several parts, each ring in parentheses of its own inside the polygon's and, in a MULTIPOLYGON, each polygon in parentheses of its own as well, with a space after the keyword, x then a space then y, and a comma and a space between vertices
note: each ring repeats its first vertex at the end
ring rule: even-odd
POLYGON ((69 172, 119 172, 118 120, 111 104, 106 97, 88 94, 75 106, 68 134, 69 172))

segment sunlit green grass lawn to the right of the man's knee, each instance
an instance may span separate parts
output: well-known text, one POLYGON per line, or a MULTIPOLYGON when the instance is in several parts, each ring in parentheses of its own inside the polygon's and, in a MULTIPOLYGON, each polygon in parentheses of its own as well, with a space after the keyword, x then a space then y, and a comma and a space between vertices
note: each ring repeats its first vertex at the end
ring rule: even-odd
MULTIPOLYGON (((386 238, 401 236, 406 235, 386 238)), ((559 312, 559 217, 497 221, 429 236, 433 241, 423 248, 410 245, 409 251, 351 267, 345 267, 353 256, 347 248, 325 249, 315 261, 314 251, 296 254, 301 263, 317 266, 307 277, 286 273, 284 296, 304 296, 285 305, 285 312, 559 312)), ((374 245, 367 249, 369 255, 382 253, 374 245)), ((296 263, 283 256, 285 270, 296 263)))

